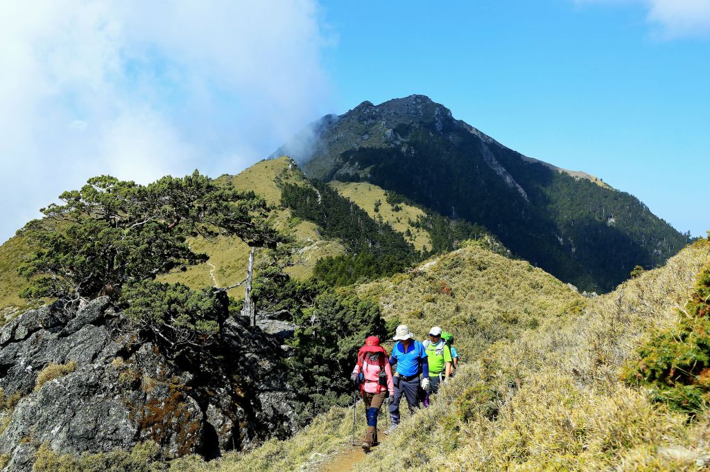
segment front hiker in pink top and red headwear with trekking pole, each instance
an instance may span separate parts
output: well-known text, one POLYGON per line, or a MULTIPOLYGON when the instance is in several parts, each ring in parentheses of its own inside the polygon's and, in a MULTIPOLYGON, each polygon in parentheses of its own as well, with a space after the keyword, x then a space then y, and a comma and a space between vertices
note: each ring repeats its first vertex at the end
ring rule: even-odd
POLYGON ((362 449, 369 451, 377 445, 377 416, 385 403, 385 398, 394 395, 394 383, 389 356, 380 346, 380 338, 370 336, 357 354, 357 362, 350 376, 360 386, 360 394, 365 404, 367 432, 362 449))

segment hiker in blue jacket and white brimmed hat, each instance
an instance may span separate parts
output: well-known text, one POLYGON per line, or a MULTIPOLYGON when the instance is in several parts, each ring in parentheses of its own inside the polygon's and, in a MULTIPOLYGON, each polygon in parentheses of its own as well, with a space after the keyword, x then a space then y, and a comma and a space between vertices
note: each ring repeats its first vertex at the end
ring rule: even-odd
POLYGON ((414 339, 407 325, 399 325, 392 338, 395 345, 392 348, 390 364, 396 364, 395 391, 390 397, 390 419, 391 426, 385 434, 391 434, 400 422, 399 404, 402 395, 407 398, 410 413, 419 407, 419 377, 422 376, 422 385, 429 388, 429 366, 427 365, 427 354, 422 343, 414 339))

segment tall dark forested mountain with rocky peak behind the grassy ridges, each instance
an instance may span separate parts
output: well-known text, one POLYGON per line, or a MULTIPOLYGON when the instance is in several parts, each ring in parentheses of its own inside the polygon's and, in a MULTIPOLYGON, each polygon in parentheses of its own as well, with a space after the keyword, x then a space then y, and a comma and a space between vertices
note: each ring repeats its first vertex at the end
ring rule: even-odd
POLYGON ((610 291, 634 266, 662 265, 687 242, 634 196, 510 150, 425 96, 363 102, 294 142, 275 154, 290 153, 308 176, 366 181, 482 225, 580 290, 610 291))

